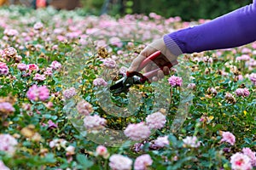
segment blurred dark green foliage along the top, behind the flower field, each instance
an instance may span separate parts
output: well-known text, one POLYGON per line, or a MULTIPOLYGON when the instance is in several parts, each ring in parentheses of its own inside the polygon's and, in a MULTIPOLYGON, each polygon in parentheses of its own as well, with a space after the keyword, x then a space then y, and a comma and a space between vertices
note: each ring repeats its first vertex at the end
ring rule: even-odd
MULTIPOLYGON (((99 1, 93 1, 96 3, 91 3, 89 0, 84 0, 83 2, 84 8, 88 9, 87 11, 93 14, 100 14, 103 1, 101 1, 101 3, 99 1)), ((180 16, 183 20, 214 19, 236 8, 241 8, 242 6, 252 3, 251 0, 160 0, 157 3, 154 0, 136 0, 113 2, 114 3, 108 8, 108 14, 149 14, 154 12, 166 18, 180 16), (125 8, 125 10, 121 10, 122 8, 125 8)))

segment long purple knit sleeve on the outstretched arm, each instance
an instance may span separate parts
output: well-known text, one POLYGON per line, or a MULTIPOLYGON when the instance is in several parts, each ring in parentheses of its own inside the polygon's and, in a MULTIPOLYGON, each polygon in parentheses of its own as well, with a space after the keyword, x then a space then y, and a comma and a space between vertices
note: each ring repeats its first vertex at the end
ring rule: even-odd
POLYGON ((191 54, 220 48, 235 48, 256 41, 256 0, 199 26, 164 36, 174 54, 191 54), (178 48, 177 48, 178 47, 178 48))

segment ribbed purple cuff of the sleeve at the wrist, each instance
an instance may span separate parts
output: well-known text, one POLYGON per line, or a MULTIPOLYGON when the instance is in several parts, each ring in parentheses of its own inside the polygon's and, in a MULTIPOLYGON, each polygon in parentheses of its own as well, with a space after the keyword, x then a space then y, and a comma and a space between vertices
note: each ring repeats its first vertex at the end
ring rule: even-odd
POLYGON ((166 34, 164 36, 164 42, 166 47, 170 50, 170 52, 176 56, 183 54, 183 44, 178 44, 177 36, 175 33, 166 34))

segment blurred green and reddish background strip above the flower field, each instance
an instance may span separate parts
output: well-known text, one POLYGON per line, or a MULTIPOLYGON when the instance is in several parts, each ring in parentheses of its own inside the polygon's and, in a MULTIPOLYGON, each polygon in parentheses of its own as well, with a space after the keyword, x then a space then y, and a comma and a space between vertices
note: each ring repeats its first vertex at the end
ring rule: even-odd
POLYGON ((183 20, 213 19, 249 3, 252 0, 0 0, 0 5, 22 4, 37 8, 39 4, 39 7, 50 5, 68 10, 83 8, 86 14, 117 17, 154 12, 166 18, 180 16, 183 20))

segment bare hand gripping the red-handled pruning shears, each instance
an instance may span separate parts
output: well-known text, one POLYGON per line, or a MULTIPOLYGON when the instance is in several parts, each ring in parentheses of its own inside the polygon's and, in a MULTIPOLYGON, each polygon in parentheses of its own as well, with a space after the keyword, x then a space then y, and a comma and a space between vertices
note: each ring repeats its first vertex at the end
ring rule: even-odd
MULTIPOLYGON (((166 48, 166 44, 163 38, 160 38, 152 43, 150 43, 143 51, 137 56, 136 59, 133 59, 131 62, 131 66, 128 69, 128 72, 137 71, 139 65, 146 59, 149 55, 154 54, 154 52, 160 51, 161 55, 154 59, 154 62, 150 62, 146 67, 145 71, 153 71, 159 68, 161 65, 165 65, 166 63, 172 63, 177 60, 177 56, 172 54, 168 48, 166 48)), ((157 77, 153 77, 153 82, 158 81, 159 79, 165 77, 170 74, 170 70, 167 66, 163 68, 163 70, 158 71, 157 77)))

